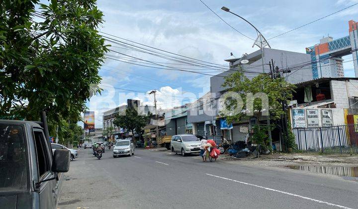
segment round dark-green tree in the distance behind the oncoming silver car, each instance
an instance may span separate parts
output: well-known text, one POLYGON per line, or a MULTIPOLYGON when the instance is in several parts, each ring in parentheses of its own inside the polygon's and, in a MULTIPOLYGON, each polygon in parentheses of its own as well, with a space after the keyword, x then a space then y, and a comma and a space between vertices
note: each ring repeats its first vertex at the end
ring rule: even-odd
POLYGON ((147 115, 138 114, 137 110, 134 108, 127 108, 125 110, 125 115, 117 115, 113 120, 113 123, 121 128, 125 128, 132 132, 132 138, 134 140, 134 131, 140 134, 140 131, 144 126, 146 126, 149 122, 150 113, 147 115))

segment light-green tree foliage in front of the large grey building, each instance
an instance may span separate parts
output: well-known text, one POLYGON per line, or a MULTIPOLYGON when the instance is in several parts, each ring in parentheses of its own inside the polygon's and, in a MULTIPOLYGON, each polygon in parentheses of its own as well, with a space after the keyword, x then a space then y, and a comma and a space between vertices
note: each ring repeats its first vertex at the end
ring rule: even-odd
MULTIPOLYGON (((242 104, 238 104, 237 100, 228 99, 225 103, 227 109, 232 110, 240 105, 243 106, 243 109, 247 109, 250 102, 250 98, 247 97, 248 94, 264 93, 269 100, 269 114, 275 119, 279 119, 281 114, 284 114, 281 102, 288 104, 295 88, 294 85, 287 83, 284 78, 272 79, 268 74, 259 74, 250 80, 244 75, 242 69, 226 77, 223 87, 228 88, 228 91, 238 93, 243 101, 242 104)), ((260 112, 263 110, 260 98, 254 99, 253 110, 254 116, 259 117, 260 112)), ((229 123, 240 121, 243 117, 247 116, 244 111, 235 114, 225 114, 222 112, 221 114, 227 117, 229 123)))

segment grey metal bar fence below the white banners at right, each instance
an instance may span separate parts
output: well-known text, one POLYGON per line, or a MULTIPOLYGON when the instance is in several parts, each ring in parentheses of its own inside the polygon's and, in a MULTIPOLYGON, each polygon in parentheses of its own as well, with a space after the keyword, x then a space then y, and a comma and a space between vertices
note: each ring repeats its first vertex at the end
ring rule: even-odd
POLYGON ((358 154, 358 124, 292 130, 299 150, 358 154))

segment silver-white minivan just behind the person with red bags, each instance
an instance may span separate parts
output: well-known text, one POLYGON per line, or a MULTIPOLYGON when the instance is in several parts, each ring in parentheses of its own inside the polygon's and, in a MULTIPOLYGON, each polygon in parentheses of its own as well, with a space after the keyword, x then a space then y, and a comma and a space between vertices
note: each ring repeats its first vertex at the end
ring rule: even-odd
POLYGON ((171 141, 172 152, 181 153, 182 156, 200 152, 200 140, 192 134, 174 135, 171 141))

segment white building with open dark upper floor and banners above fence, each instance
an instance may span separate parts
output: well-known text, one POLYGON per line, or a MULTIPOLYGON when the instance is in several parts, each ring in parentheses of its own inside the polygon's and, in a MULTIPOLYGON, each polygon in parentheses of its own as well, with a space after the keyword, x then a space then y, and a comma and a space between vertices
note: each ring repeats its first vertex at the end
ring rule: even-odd
POLYGON ((358 114, 358 78, 319 78, 296 87, 293 100, 297 104, 290 117, 293 128, 356 123, 352 118, 358 114), (301 111, 298 117, 297 111, 301 111), (328 112, 330 120, 324 120, 324 112, 328 112), (310 119, 312 115, 316 119, 310 119))

